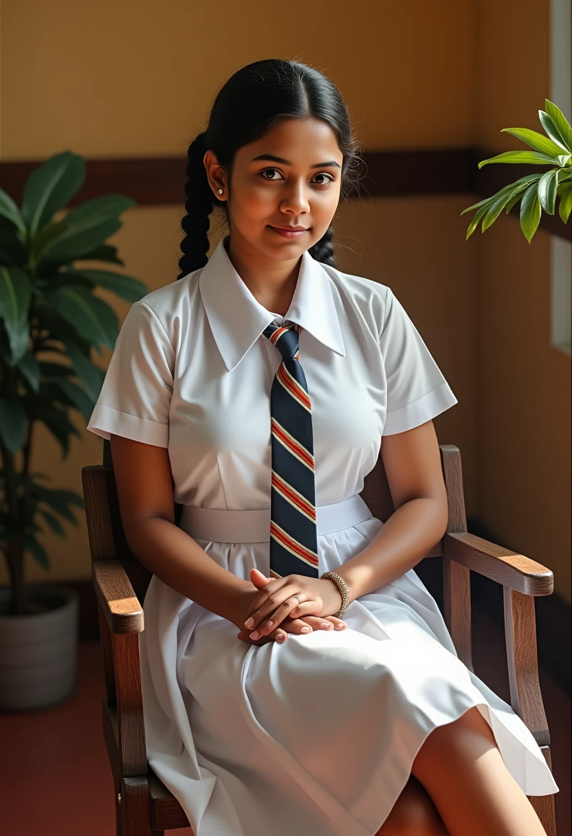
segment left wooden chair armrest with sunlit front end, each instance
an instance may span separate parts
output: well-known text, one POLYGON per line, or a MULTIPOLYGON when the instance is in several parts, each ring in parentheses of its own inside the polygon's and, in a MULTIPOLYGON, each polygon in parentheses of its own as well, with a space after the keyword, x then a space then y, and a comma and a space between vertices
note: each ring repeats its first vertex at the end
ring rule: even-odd
POLYGON ((119 560, 94 560, 91 566, 95 593, 110 632, 141 633, 143 609, 119 560))

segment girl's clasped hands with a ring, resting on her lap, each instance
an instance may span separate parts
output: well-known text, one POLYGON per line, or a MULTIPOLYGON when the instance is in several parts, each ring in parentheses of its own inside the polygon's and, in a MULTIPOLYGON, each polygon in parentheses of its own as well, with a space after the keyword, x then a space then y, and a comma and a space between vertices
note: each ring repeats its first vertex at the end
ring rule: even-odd
POLYGON ((304 627, 311 631, 313 627, 343 630, 347 626, 332 615, 340 609, 342 598, 329 579, 299 574, 268 579, 253 568, 250 580, 258 592, 252 593, 243 623, 237 623, 239 639, 258 644, 256 640, 269 636, 285 640, 288 632, 301 633, 304 627))

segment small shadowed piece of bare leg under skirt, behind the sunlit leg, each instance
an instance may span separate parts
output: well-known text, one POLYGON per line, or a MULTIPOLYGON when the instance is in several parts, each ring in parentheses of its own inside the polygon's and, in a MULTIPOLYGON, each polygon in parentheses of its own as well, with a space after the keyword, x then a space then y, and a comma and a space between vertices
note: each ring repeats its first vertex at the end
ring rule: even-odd
POLYGON ((411 775, 375 836, 448 836, 431 796, 411 775))

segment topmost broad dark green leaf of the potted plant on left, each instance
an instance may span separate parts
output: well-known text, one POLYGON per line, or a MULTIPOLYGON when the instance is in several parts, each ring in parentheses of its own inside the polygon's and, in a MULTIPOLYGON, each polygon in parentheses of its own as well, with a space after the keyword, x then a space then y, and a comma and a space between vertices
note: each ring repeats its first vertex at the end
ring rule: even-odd
POLYGON ((38 229, 63 209, 85 180, 85 163, 78 154, 54 154, 34 169, 24 186, 22 215, 35 237, 38 229))

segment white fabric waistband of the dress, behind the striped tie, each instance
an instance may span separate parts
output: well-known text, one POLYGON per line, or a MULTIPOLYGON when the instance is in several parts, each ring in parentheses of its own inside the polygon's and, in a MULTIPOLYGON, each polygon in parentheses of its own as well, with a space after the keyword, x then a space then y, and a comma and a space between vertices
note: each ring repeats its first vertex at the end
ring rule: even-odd
MULTIPOLYGON (((359 493, 344 502, 316 507, 318 537, 332 534, 372 517, 367 503, 359 493)), ((270 508, 251 511, 227 511, 225 508, 203 508, 184 505, 179 527, 199 540, 212 543, 268 543, 270 541, 270 508)))

